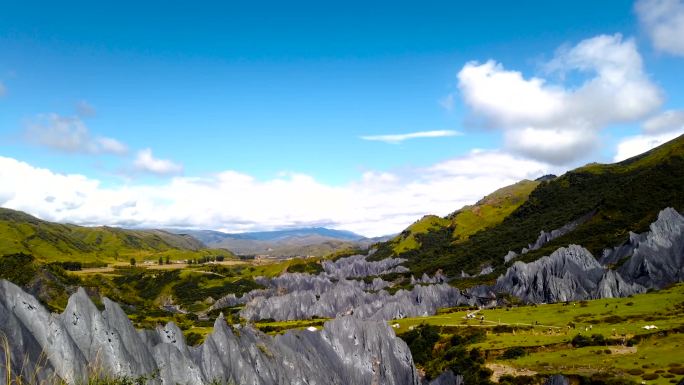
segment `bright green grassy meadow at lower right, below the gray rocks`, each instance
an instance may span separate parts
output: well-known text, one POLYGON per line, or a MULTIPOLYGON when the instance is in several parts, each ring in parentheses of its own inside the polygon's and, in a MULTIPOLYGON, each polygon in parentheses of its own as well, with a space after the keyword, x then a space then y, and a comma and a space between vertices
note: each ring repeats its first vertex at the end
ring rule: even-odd
MULTIPOLYGON (((644 374, 662 371, 658 379, 648 383, 667 384, 670 378, 663 375, 671 370, 670 365, 684 364, 684 284, 631 298, 483 310, 477 317, 484 315, 484 323, 479 319, 466 320, 468 312, 407 318, 391 323, 399 325, 395 328, 399 335, 420 324, 437 325, 444 340, 459 331, 485 330, 486 339, 468 344, 468 349, 479 348, 486 352, 489 363, 543 374, 605 372, 640 382, 642 374, 638 370, 644 374), (536 322, 540 325, 532 326, 536 322), (568 329, 569 324, 575 324, 575 328, 568 329), (498 325, 517 328, 497 331, 498 325), (585 331, 590 325, 591 330, 585 331), (658 329, 645 330, 645 325, 656 325, 658 329), (578 334, 600 334, 618 343, 636 336, 633 341, 639 342, 636 348, 621 345, 574 348, 570 341, 578 334), (524 347, 528 354, 508 360, 499 357, 501 352, 517 346, 524 347), (611 353, 606 353, 606 349, 611 353), (637 370, 638 374, 629 374, 628 370, 637 370)), ((438 345, 435 346, 437 350, 438 345)), ((679 380, 682 375, 675 378, 679 380)))

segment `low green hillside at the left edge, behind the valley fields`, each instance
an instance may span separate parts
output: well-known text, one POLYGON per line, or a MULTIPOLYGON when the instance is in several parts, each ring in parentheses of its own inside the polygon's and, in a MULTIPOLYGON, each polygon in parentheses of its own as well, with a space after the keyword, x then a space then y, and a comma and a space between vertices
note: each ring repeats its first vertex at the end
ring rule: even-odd
POLYGON ((188 235, 161 230, 125 230, 58 224, 0 208, 0 255, 26 253, 43 262, 128 262, 159 256, 170 259, 204 255, 232 256, 225 250, 208 250, 188 235))

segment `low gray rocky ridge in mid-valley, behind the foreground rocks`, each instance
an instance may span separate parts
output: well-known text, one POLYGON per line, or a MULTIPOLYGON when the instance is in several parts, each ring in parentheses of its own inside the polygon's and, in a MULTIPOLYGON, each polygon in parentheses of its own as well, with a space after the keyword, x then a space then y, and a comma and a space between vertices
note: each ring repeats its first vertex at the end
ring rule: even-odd
POLYGON ((334 318, 351 315, 370 320, 432 315, 441 307, 473 305, 476 299, 449 286, 444 275, 413 278, 411 290, 390 294, 391 284, 378 276, 405 272, 403 259, 369 262, 356 255, 326 261, 318 275, 285 273, 278 277, 259 278, 266 289, 254 290, 241 298, 233 295, 219 299, 211 310, 244 304, 240 316, 256 321, 334 318), (372 281, 361 278, 373 277, 372 281))

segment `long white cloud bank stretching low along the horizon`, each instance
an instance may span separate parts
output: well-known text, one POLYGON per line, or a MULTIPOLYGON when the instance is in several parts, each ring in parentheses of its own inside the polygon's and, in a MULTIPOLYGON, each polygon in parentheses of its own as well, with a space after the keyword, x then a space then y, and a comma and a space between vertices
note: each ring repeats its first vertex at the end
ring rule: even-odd
POLYGON ((0 157, 0 204, 86 225, 249 231, 326 224, 368 236, 396 233, 425 214, 446 215, 495 189, 553 172, 499 151, 473 151, 402 173, 369 171, 341 186, 298 173, 257 180, 227 170, 163 184, 104 186, 0 157))

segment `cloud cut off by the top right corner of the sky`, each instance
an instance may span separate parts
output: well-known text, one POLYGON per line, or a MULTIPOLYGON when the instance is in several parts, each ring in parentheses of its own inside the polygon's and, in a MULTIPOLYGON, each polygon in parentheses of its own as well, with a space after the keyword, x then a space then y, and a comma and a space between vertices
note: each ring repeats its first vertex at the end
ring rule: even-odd
POLYGON ((635 9, 657 50, 684 56, 684 1, 639 0, 635 9))

